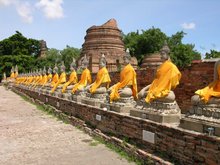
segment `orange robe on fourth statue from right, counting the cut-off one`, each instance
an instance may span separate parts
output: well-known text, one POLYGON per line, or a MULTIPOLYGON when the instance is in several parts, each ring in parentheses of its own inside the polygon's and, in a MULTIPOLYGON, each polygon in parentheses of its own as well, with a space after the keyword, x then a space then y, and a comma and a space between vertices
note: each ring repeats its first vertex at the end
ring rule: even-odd
POLYGON ((108 74, 108 70, 106 67, 101 68, 96 77, 96 81, 90 88, 90 93, 95 93, 96 89, 102 84, 102 83, 107 83, 107 88, 109 87, 109 84, 111 82, 110 76, 108 74))

